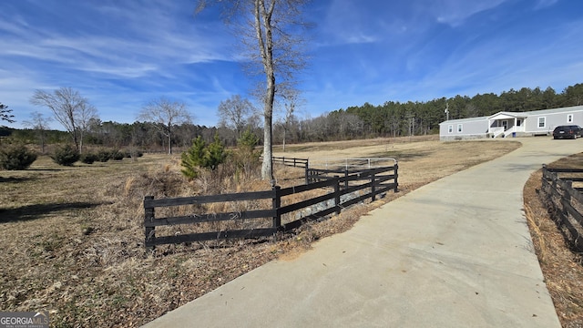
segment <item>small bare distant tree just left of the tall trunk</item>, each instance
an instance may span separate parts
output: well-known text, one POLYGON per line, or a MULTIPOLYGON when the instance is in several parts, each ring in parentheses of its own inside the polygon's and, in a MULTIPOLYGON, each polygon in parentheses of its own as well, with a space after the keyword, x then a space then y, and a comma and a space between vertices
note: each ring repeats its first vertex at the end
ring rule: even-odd
POLYGON ((220 126, 233 128, 237 131, 237 138, 248 124, 253 115, 253 105, 249 99, 235 95, 219 104, 220 126))

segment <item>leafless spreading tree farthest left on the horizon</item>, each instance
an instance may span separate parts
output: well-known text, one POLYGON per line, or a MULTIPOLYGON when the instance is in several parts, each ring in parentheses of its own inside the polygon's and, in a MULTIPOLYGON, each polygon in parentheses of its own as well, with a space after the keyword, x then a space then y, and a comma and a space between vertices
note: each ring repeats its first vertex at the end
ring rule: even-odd
POLYGON ((79 92, 71 87, 61 87, 52 94, 36 90, 30 102, 33 105, 51 109, 56 121, 65 127, 73 138, 77 150, 81 151, 83 134, 79 129, 79 120, 84 108, 91 106, 87 98, 81 97, 79 92))

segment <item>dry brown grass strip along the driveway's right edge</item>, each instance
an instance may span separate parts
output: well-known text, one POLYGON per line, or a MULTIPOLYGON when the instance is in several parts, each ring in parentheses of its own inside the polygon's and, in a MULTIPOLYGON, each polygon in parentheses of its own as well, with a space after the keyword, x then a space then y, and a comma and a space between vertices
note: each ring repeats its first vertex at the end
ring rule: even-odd
MULTIPOLYGON (((583 154, 549 164, 557 168, 582 168, 583 154)), ((568 242, 551 220, 538 195, 542 171, 528 179, 524 188, 525 212, 538 261, 563 327, 583 327, 583 258, 570 251, 568 242)))

